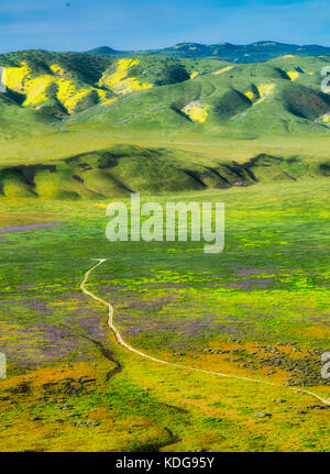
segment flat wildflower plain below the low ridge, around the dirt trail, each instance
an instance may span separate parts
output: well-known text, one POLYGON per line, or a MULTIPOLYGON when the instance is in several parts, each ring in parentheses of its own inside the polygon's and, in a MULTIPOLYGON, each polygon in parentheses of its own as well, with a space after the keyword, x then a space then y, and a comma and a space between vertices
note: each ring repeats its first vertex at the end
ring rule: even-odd
MULTIPOLYGON (((125 198, 123 198, 125 200, 125 198)), ((145 197, 148 200, 150 197, 145 197)), ((198 243, 110 243, 107 200, 6 199, 1 235, 1 450, 329 451, 328 181, 154 196, 224 201, 226 250, 198 243), (118 346, 106 308, 145 353, 252 376, 271 387, 190 373, 118 346), (111 361, 112 360, 112 361, 111 361), (256 414, 263 412, 264 418, 256 414), (21 427, 24 426, 24 430, 21 427)))

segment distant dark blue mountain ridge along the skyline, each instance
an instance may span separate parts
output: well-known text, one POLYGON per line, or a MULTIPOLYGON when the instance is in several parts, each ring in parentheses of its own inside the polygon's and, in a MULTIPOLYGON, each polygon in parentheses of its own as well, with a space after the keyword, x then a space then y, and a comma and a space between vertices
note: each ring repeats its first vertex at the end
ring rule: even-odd
POLYGON ((216 57, 231 63, 261 63, 284 55, 295 56, 330 56, 330 47, 319 45, 295 45, 275 41, 261 41, 248 45, 219 43, 205 45, 199 43, 178 43, 172 47, 146 51, 117 51, 101 46, 87 51, 88 54, 124 57, 128 55, 161 55, 178 58, 216 57))

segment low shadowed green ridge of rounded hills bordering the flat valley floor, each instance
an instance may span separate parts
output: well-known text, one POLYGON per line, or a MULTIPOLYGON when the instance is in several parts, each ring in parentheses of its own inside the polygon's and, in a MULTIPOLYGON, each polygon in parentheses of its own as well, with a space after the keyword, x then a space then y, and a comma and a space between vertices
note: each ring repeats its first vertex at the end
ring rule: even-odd
POLYGON ((46 164, 0 167, 7 198, 102 199, 131 192, 227 189, 257 183, 295 181, 329 175, 329 163, 260 154, 245 163, 194 164, 194 155, 166 148, 117 145, 46 164))

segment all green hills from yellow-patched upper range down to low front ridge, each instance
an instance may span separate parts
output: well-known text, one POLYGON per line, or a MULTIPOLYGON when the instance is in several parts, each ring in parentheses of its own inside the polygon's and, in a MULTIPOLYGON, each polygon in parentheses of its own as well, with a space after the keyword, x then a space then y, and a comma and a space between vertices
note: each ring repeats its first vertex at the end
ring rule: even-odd
POLYGON ((91 199, 327 175, 329 63, 1 55, 0 192, 91 199))

